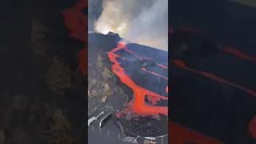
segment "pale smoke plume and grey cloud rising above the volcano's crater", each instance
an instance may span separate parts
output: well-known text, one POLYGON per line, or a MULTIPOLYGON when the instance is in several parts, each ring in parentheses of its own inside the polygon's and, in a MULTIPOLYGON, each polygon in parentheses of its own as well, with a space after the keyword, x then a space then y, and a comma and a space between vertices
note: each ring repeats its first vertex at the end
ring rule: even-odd
POLYGON ((94 30, 167 51, 168 0, 103 0, 94 30))

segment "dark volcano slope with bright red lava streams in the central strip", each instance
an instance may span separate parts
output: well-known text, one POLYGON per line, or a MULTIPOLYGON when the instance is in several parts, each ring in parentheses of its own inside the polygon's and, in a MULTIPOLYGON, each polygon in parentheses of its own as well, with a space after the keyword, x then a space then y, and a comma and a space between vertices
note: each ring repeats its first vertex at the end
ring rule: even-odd
MULTIPOLYGON (((112 32, 90 32, 88 43, 89 81, 106 82, 109 97, 117 95, 116 87, 129 95, 123 106, 114 108, 119 110, 114 122, 123 133, 133 137, 167 134, 168 53, 127 42, 112 32)), ((117 96, 108 104, 118 102, 117 96)))

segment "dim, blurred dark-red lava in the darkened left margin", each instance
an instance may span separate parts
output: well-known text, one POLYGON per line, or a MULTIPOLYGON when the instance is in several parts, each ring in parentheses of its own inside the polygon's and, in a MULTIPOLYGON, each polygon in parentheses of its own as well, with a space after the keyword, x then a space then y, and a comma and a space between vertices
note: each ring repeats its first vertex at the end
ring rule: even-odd
POLYGON ((88 16, 82 13, 88 6, 87 0, 82 0, 70 10, 62 12, 65 18, 65 25, 70 30, 70 37, 85 43, 84 48, 78 53, 79 69, 82 74, 88 74, 88 16))

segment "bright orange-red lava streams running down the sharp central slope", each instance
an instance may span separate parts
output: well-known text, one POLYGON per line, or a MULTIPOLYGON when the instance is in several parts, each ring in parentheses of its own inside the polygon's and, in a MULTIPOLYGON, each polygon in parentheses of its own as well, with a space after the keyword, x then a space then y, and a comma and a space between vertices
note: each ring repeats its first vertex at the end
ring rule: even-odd
MULTIPOLYGON (((156 102, 159 102, 161 100, 168 100, 168 98, 163 97, 162 95, 159 95, 159 94, 155 94, 154 92, 152 92, 150 90, 146 90, 146 89, 142 88, 141 86, 136 85, 135 82, 133 82, 133 80, 125 73, 125 70, 122 68, 122 66, 120 66, 120 64, 118 63, 117 58, 121 58, 121 57, 118 54, 114 54, 114 52, 116 52, 118 50, 122 50, 122 49, 130 52, 130 54, 134 54, 134 56, 136 56, 139 59, 143 59, 138 54, 135 54, 133 51, 128 50, 126 48, 126 43, 124 43, 124 42, 119 43, 117 48, 114 48, 114 50, 111 50, 108 53, 110 62, 114 62, 114 65, 112 66, 112 70, 113 70, 114 74, 117 74, 118 77, 120 78, 121 82, 126 84, 126 86, 129 86, 134 91, 134 98, 128 104, 126 104, 126 109, 123 109, 120 112, 118 112, 117 117, 120 118, 120 116, 122 114, 124 114, 126 112, 130 112, 130 111, 133 111, 134 114, 137 114, 137 115, 157 115, 157 114, 168 115, 168 107, 167 106, 163 106, 163 107, 147 106, 145 104, 144 99, 145 99, 146 95, 148 96, 149 101, 152 102, 153 104, 156 102)), ((122 58, 122 59, 124 59, 124 58, 122 58)), ((162 65, 158 65, 158 66, 162 66, 162 65)), ((162 66, 162 67, 167 68, 166 66, 162 66)), ((150 72, 150 71, 146 70, 145 68, 142 68, 142 70, 145 70, 146 72, 149 72, 150 74, 155 74, 155 75, 161 76, 162 78, 166 78, 160 74, 150 72)), ((168 80, 168 78, 166 78, 166 79, 168 80)))

